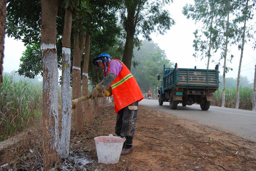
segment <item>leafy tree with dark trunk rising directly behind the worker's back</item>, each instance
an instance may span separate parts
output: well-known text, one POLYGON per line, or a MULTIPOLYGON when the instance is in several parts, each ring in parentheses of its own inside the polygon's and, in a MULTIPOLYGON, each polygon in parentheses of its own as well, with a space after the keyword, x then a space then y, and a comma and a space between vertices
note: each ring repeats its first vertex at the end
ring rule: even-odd
POLYGON ((138 35, 150 40, 152 32, 164 34, 173 24, 167 6, 173 0, 123 0, 120 9, 121 22, 126 31, 123 63, 131 68, 133 48, 138 43, 138 35))

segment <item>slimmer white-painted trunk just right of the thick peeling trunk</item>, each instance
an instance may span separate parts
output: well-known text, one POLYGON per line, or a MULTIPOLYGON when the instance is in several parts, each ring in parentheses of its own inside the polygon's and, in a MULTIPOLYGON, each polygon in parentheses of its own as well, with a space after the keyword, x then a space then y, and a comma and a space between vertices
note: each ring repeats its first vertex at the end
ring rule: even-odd
POLYGON ((62 98, 62 122, 60 138, 60 156, 69 157, 69 140, 71 130, 71 108, 70 99, 70 37, 72 27, 72 9, 66 9, 64 29, 62 36, 62 79, 61 79, 61 98, 62 98))

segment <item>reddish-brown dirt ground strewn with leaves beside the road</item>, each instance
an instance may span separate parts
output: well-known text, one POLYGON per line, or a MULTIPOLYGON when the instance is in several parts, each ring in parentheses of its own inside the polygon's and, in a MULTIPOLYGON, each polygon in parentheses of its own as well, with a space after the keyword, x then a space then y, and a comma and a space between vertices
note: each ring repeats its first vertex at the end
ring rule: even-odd
MULTIPOLYGON (((114 105, 101 107, 92 125, 85 125, 83 133, 71 135, 70 158, 61 161, 53 170, 256 171, 256 142, 141 105, 133 141, 134 152, 120 156, 116 164, 98 163, 94 138, 110 133, 116 135, 115 121, 114 105), (75 162, 74 156, 85 157, 89 163, 75 162)), ((30 137, 30 134, 37 133, 27 134, 30 137)), ((10 148, 1 163, 1 166, 8 165, 0 170, 42 170, 38 141, 25 138, 16 148, 10 148)))

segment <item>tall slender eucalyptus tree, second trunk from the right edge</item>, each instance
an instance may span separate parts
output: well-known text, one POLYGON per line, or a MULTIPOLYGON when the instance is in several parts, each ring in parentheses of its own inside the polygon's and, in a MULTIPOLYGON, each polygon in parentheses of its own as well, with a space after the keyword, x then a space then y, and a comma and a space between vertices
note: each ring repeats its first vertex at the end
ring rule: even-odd
POLYGON ((237 74, 237 84, 236 84, 236 109, 239 108, 240 103, 240 96, 239 96, 239 83, 240 83, 240 72, 241 72, 241 65, 242 65, 242 59, 243 59, 243 53, 244 53, 244 46, 246 43, 246 39, 252 38, 253 35, 249 32, 250 29, 246 26, 246 21, 253 19, 255 10, 255 3, 256 0, 240 0, 240 6, 239 10, 236 14, 235 22, 240 24, 244 22, 243 26, 240 28, 240 32, 238 34, 238 42, 241 41, 241 43, 238 43, 238 48, 241 49, 241 55, 240 55, 240 61, 239 61, 239 67, 238 67, 238 74, 237 74))

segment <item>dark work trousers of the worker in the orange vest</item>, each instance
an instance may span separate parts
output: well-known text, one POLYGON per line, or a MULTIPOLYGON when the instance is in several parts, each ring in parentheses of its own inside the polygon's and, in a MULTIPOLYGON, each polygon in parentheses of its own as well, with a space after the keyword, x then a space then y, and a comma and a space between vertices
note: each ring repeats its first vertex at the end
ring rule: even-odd
POLYGON ((118 111, 115 131, 118 136, 126 137, 126 141, 125 141, 126 145, 132 145, 132 139, 134 137, 134 132, 135 132, 137 113, 138 113, 138 101, 118 111), (131 109, 136 109, 136 110, 131 110, 131 109))

